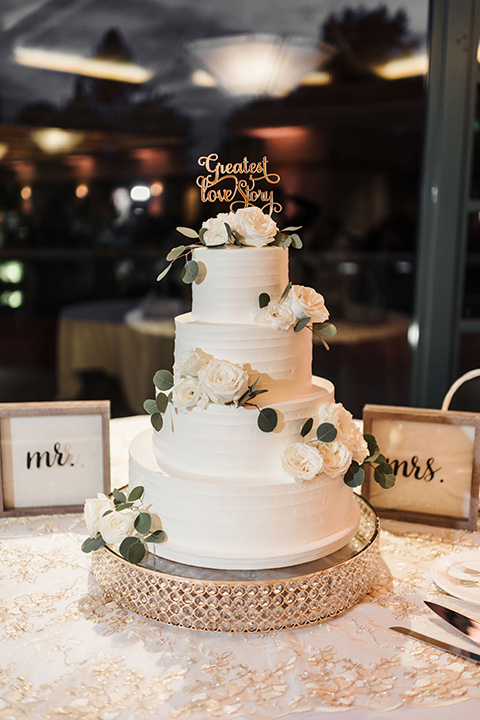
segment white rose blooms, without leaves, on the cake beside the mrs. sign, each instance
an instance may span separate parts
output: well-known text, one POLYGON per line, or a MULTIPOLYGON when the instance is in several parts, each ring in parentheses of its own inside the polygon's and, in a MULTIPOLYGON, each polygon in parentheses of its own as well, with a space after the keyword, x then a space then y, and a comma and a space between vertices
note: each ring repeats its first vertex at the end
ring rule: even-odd
POLYGON ((295 442, 281 455, 285 472, 297 482, 313 480, 324 473, 335 478, 345 475, 351 463, 363 463, 368 445, 351 413, 341 403, 326 403, 318 414, 318 423, 330 423, 337 431, 331 442, 311 440, 295 442))

